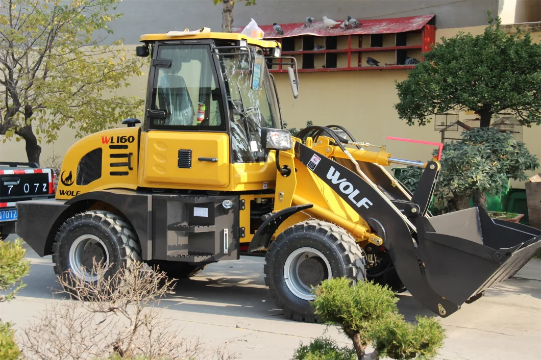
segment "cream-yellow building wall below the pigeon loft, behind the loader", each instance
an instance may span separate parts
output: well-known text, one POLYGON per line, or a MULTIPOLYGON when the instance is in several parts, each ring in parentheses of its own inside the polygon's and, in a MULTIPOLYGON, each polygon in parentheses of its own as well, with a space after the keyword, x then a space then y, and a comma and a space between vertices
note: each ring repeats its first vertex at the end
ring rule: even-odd
MULTIPOLYGON (((481 34, 484 26, 460 29, 443 29, 436 33, 437 39, 451 37, 458 31, 481 34)), ((537 30, 537 29, 536 29, 537 30)), ((532 33, 536 42, 541 41, 541 31, 532 33)), ((136 45, 127 46, 134 49, 136 45)), ((148 72, 148 71, 146 71, 148 72)), ((286 74, 275 74, 281 109, 288 128, 304 127, 306 121, 316 125, 340 124, 346 126, 359 141, 387 145, 393 156, 425 161, 430 158, 432 148, 427 145, 389 141, 387 136, 421 139, 439 142, 440 133, 434 131, 434 124, 408 126, 398 118, 393 105, 398 102, 395 81, 407 77, 406 70, 386 71, 345 71, 300 73, 299 98, 294 99, 286 74)), ((144 96, 147 79, 134 79, 129 89, 122 89, 122 95, 144 96)), ((461 120, 473 118, 460 114, 461 120)), ((120 124, 119 124, 120 126, 120 124)), ((459 133, 451 133, 459 135, 459 133)), ((75 143, 75 132, 67 127, 61 130, 55 144, 42 144, 42 164, 53 154, 63 156, 75 143)), ((448 134, 450 136, 450 134, 448 134)), ((524 127, 523 139, 529 150, 541 159, 541 126, 524 127)), ((26 161, 24 141, 0 142, 0 161, 26 161)), ((533 172, 529 173, 530 176, 533 172)), ((515 188, 524 184, 513 182, 515 188)))

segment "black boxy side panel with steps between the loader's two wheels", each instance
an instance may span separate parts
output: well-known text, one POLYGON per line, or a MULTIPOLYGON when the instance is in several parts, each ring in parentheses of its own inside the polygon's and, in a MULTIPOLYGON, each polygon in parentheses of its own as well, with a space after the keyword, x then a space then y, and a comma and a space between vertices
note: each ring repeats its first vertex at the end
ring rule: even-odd
POLYGON ((239 259, 239 197, 153 195, 153 258, 239 259))

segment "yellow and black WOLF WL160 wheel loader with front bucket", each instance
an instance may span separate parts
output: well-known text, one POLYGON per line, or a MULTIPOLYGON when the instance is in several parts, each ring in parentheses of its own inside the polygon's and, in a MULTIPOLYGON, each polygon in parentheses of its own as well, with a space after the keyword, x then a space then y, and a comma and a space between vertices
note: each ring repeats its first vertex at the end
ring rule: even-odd
MULTIPOLYGON (((408 290, 440 316, 475 301, 541 247, 541 231, 480 208, 431 216, 440 164, 393 157, 340 125, 283 129, 267 64, 280 44, 203 28, 143 35, 145 116, 65 154, 55 199, 17 203, 17 234, 56 274, 94 282, 139 260, 190 277, 265 254, 286 316, 313 322, 313 286, 372 280, 408 290), (384 166, 424 168, 411 194, 384 166)), ((274 60, 273 60, 274 59, 274 60)), ((291 65, 291 66, 289 66, 291 65)))

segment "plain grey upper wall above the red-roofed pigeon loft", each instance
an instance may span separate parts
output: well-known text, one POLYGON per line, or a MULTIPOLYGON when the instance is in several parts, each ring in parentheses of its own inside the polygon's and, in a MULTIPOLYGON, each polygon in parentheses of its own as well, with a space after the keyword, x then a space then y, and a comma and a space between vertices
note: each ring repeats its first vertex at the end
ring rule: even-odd
MULTIPOLYGON (((390 18, 436 14, 438 29, 486 24, 486 12, 496 15, 498 0, 258 0, 254 6, 237 1, 234 26, 245 26, 254 18, 259 24, 304 22, 307 16, 339 20, 390 18)), ((135 44, 140 34, 169 30, 221 29, 222 5, 211 0, 124 0, 118 5, 124 17, 111 28, 115 36, 135 44)))

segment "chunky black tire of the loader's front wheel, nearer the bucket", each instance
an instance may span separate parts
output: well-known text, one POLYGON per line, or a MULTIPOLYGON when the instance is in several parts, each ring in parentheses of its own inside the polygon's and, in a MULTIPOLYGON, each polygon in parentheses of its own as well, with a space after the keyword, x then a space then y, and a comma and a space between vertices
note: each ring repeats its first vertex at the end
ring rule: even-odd
POLYGON ((265 285, 269 288, 269 295, 274 300, 276 306, 283 310, 284 315, 293 319, 294 321, 301 321, 307 323, 317 323, 318 319, 314 315, 304 315, 289 309, 280 299, 278 293, 272 288, 271 278, 269 274, 269 266, 267 265, 271 261, 272 254, 278 248, 280 242, 287 240, 287 235, 298 232, 317 232, 324 235, 326 238, 332 241, 334 246, 340 250, 342 259, 346 264, 347 277, 352 279, 352 284, 355 285, 359 281, 364 281, 366 278, 366 262, 362 250, 359 248, 355 239, 347 233, 346 230, 333 223, 320 221, 320 220, 308 220, 300 222, 287 228, 280 235, 276 237, 276 240, 271 242, 267 254, 265 255, 266 264, 263 266, 263 272, 265 273, 265 285), (308 230, 308 231, 307 231, 308 230))

